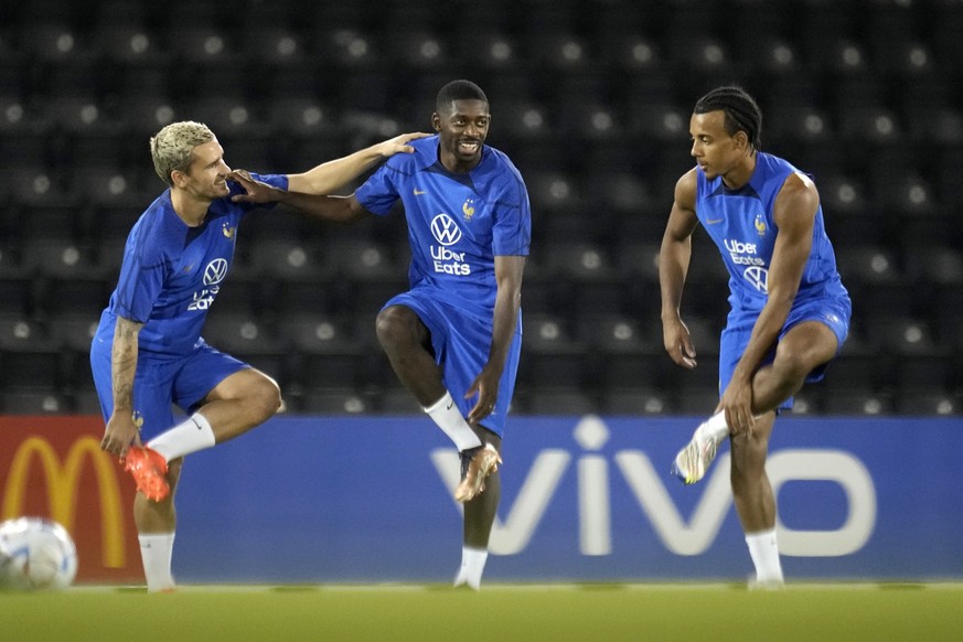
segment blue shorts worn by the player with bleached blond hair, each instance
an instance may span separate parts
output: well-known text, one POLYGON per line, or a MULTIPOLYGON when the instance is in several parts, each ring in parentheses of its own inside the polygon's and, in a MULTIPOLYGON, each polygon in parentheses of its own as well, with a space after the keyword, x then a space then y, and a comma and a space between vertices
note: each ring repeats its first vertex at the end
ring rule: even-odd
MULTIPOLYGON (((90 346, 94 385, 106 422, 114 413, 110 374, 113 335, 96 336, 90 346)), ((133 416, 142 420, 140 437, 147 442, 175 424, 173 406, 191 414, 207 393, 234 373, 250 367, 201 339, 185 356, 163 357, 141 352, 133 375, 133 416)))

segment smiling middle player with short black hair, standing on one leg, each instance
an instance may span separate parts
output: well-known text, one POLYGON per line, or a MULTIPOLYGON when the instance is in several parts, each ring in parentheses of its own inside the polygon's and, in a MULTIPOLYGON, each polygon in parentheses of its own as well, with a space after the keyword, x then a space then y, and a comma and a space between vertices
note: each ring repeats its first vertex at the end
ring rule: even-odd
POLYGON ((456 586, 478 589, 499 506, 502 435, 522 345, 522 274, 532 236, 525 183, 484 145, 491 115, 469 81, 435 101, 436 136, 389 159, 350 196, 317 196, 235 178, 237 201, 280 201, 334 222, 387 215, 400 200, 411 245, 411 289, 385 303, 377 336, 392 367, 461 456, 464 503, 456 586))

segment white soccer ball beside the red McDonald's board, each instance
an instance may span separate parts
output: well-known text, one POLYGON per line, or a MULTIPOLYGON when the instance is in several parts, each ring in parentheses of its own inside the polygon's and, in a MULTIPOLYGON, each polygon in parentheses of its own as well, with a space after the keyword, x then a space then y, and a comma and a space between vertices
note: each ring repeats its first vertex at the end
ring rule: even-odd
POLYGON ((61 590, 77 575, 77 548, 67 529, 43 517, 0 523, 0 587, 61 590))

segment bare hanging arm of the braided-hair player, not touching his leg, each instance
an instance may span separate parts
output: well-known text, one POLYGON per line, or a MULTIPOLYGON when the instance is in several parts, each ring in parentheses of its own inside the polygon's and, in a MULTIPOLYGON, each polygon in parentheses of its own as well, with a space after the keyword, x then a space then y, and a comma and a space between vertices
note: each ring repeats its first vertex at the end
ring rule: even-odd
POLYGON ((695 346, 682 321, 680 306, 688 263, 692 234, 698 225, 695 213, 696 170, 692 169, 675 184, 675 200, 668 214, 662 247, 659 250, 659 285, 662 291, 662 339, 665 351, 676 364, 696 366, 695 346))

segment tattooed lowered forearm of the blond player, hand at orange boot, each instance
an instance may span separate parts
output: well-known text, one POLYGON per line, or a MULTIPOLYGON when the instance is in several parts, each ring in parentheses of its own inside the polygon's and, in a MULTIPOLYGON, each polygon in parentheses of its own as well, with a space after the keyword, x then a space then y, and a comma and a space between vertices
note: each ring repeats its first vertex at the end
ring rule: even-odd
POLYGON ((111 376, 114 379, 114 414, 100 448, 111 454, 124 457, 131 443, 140 445, 140 431, 133 421, 133 375, 137 372, 138 333, 143 323, 124 317, 117 318, 114 330, 111 376))

